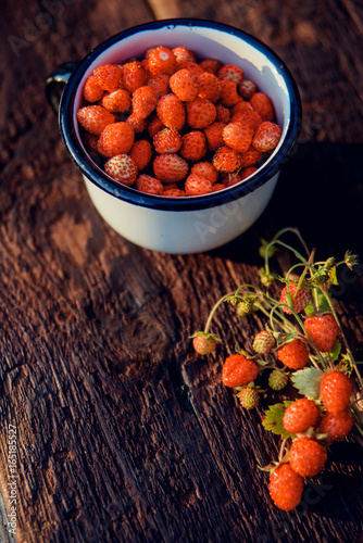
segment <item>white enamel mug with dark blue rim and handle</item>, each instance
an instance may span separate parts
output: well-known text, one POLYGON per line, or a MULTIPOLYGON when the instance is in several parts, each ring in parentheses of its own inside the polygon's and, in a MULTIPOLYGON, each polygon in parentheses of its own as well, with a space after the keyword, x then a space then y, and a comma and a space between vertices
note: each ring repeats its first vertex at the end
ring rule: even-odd
POLYGON ((291 154, 301 125, 301 102, 296 83, 284 62, 256 38, 237 28, 202 20, 165 20, 117 34, 80 63, 47 81, 48 98, 62 86, 59 123, 65 147, 79 168, 88 193, 103 219, 127 240, 153 251, 197 253, 221 247, 245 232, 265 210, 281 166, 291 154), (152 46, 185 46, 199 59, 214 58, 236 64, 245 77, 273 101, 283 129, 278 147, 250 177, 229 188, 199 197, 167 198, 117 184, 89 156, 77 124, 83 86, 101 64, 140 58, 152 46))

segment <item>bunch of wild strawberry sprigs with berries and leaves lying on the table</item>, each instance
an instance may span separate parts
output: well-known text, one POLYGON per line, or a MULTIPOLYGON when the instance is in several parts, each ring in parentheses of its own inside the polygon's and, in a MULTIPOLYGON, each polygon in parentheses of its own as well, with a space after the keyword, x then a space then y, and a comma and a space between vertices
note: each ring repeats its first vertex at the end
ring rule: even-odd
POLYGON ((236 389, 247 409, 255 407, 260 395, 266 393, 256 384, 262 372, 268 371, 268 387, 274 391, 292 384, 291 401, 271 405, 262 419, 265 429, 283 439, 278 460, 263 468, 271 473, 270 495, 277 507, 291 510, 302 498, 304 478, 324 468, 329 444, 345 439, 354 424, 363 434, 359 405, 363 381, 328 292, 331 285, 337 285, 337 267, 352 268, 356 257, 347 252, 338 263, 333 257, 314 262, 315 251, 310 253, 300 232, 292 228, 280 230, 270 243, 265 242, 263 253, 265 266, 260 278, 267 289, 276 279, 283 282, 278 299, 268 290, 241 286, 217 301, 204 331, 196 332, 192 341, 199 354, 215 351, 221 339, 209 328, 223 302, 231 303, 240 316, 258 311, 266 316, 265 329, 253 339, 254 353, 240 350, 227 356, 222 382, 236 389), (298 236, 306 256, 281 242, 287 232, 298 236), (279 244, 298 257, 283 278, 270 270, 270 257, 279 244))

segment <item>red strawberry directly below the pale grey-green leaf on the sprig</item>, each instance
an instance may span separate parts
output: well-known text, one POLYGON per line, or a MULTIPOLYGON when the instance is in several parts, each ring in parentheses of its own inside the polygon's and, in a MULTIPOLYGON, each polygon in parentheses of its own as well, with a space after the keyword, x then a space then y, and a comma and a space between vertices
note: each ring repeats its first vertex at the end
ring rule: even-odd
POLYGON ((286 431, 301 433, 315 427, 321 412, 312 400, 301 397, 290 404, 283 417, 283 425, 286 431))

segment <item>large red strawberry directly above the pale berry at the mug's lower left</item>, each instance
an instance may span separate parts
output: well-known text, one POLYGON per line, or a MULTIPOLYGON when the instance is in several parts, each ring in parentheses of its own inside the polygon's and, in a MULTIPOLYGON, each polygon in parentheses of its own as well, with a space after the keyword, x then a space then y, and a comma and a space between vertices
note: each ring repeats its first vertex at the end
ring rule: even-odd
POLYGON ((127 154, 135 140, 135 132, 127 123, 108 125, 98 140, 98 150, 104 156, 127 154))

